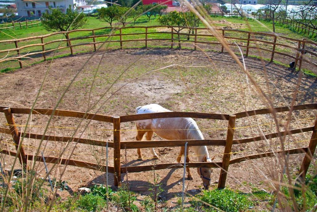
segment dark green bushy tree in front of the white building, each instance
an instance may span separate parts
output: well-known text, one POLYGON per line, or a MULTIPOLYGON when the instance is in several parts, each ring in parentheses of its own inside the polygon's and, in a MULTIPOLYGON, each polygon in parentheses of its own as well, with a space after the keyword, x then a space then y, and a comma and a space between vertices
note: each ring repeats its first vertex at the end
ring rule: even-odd
POLYGON ((49 7, 49 13, 43 13, 41 21, 47 31, 56 32, 82 28, 87 23, 87 18, 84 13, 73 11, 69 5, 66 14, 62 13, 59 8, 49 7))

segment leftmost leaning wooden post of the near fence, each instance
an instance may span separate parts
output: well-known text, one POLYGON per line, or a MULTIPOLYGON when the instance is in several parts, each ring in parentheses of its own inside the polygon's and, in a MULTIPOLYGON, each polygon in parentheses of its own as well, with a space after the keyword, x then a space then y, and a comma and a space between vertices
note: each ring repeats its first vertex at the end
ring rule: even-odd
POLYGON ((5 115, 5 118, 7 119, 7 122, 9 124, 10 132, 11 132, 11 135, 13 137, 13 141, 15 143, 16 155, 18 156, 19 161, 20 161, 21 165, 23 166, 23 168, 26 168, 28 161, 27 161, 27 158, 25 156, 22 144, 21 144, 20 149, 19 149, 20 136, 19 136, 18 130, 16 129, 15 122, 14 122, 10 107, 4 108, 3 112, 5 115))

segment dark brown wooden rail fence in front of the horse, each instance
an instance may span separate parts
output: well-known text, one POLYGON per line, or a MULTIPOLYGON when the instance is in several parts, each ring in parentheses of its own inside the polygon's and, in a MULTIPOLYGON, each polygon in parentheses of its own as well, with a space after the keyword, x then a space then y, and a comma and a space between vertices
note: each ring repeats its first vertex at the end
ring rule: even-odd
MULTIPOLYGON (((317 109, 317 103, 314 104, 305 104, 305 105, 296 105, 292 107, 292 110, 312 110, 317 109)), ((121 167, 120 165, 120 150, 121 149, 135 149, 135 148, 149 148, 149 147, 182 147, 185 145, 185 142, 188 142, 187 146, 225 146, 223 153, 223 160, 221 162, 190 162, 186 163, 186 166, 189 168, 199 168, 199 167, 210 167, 210 168, 221 168, 218 188, 224 188, 226 182, 226 176, 228 168, 231 164, 239 163, 245 160, 252 160, 257 158, 264 158, 270 156, 276 156, 279 154, 299 154, 305 153, 304 160, 301 165, 300 174, 302 179, 304 179, 307 172, 308 166, 311 162, 312 155, 315 152, 317 145, 317 115, 315 118, 314 126, 304 127, 300 129, 293 129, 284 132, 270 133, 266 135, 260 135, 253 138, 245 139, 233 139, 235 132, 235 121, 236 119, 260 115, 260 114, 270 114, 270 113, 279 113, 289 111, 289 107, 275 107, 275 108, 265 108, 259 110, 252 110, 246 112, 240 112, 235 114, 216 114, 216 113, 194 113, 194 112, 165 112, 165 113, 147 113, 147 114, 137 114, 137 115, 124 115, 124 116, 108 116, 102 114, 94 113, 83 113, 77 111, 66 111, 66 110, 50 110, 50 109, 34 109, 30 110, 27 108, 6 108, 0 107, 0 112, 4 113, 6 120, 9 125, 8 128, 0 128, 0 133, 11 134, 15 142, 16 149, 19 150, 18 157, 19 161, 23 166, 27 165, 27 160, 36 160, 42 161, 41 156, 26 155, 24 153, 23 145, 19 146, 20 138, 22 132, 18 132, 13 114, 41 114, 41 115, 54 115, 54 116, 63 116, 63 117, 75 117, 82 118, 87 120, 97 120, 103 122, 113 123, 113 142, 101 141, 101 140, 89 140, 82 138, 74 137, 64 137, 64 136, 48 136, 35 133, 25 133, 26 138, 31 139, 43 139, 49 141, 60 141, 60 142, 78 142, 88 145, 96 145, 105 147, 108 143, 108 147, 113 148, 113 167, 108 167, 108 171, 114 174, 114 185, 120 186, 121 182, 121 173, 126 172, 142 172, 142 171, 151 171, 154 168, 154 165, 142 165, 142 166, 128 166, 121 167), (147 119, 157 119, 157 118, 173 118, 173 117, 191 117, 199 119, 211 119, 211 120, 228 120, 227 128, 227 138, 225 140, 164 140, 164 141, 121 141, 120 140, 120 124, 129 121, 136 120, 147 120, 147 119), (308 147, 300 147, 294 149, 287 149, 275 152, 266 152, 261 154, 246 155, 240 158, 235 158, 230 160, 231 156, 231 147, 232 145, 249 143, 254 141, 261 141, 265 139, 277 138, 285 135, 291 135, 296 133, 310 132, 313 131, 308 147), (19 149, 20 147, 20 149, 19 149)), ((16 156, 17 153, 10 152, 8 150, 1 150, 0 153, 9 154, 11 156, 16 156)), ((59 159, 55 157, 45 157, 47 163, 58 163, 58 164, 67 164, 71 166, 77 166, 82 168, 89 168, 99 171, 105 171, 106 166, 100 164, 94 164, 85 161, 76 161, 76 160, 67 160, 59 159)), ((167 168, 181 168, 182 165, 179 163, 163 163, 156 164, 155 169, 167 169, 167 168)))

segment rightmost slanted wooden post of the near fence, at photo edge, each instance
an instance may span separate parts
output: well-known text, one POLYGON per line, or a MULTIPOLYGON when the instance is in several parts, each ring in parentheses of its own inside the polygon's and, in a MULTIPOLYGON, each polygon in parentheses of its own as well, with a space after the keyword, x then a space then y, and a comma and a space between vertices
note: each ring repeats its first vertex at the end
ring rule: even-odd
POLYGON ((301 164, 301 169, 299 171, 299 173, 301 174, 302 182, 305 182, 305 176, 306 176, 309 164, 312 161, 313 154, 316 150, 316 146, 317 146, 317 115, 315 118, 315 125, 314 125, 314 129, 313 129, 312 137, 309 141, 308 149, 307 149, 307 152, 305 154, 304 160, 301 164))

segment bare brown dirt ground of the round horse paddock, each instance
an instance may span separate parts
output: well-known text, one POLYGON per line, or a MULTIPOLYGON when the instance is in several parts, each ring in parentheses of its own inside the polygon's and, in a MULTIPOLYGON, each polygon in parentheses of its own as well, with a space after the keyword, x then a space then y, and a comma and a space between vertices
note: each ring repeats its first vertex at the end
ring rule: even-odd
MULTIPOLYGON (((196 111, 209 113, 236 113, 252 109, 267 107, 267 101, 260 97, 255 86, 250 80, 246 80, 236 63, 226 53, 206 52, 209 58, 200 51, 170 50, 170 49, 137 49, 137 50, 116 50, 97 52, 79 72, 74 82, 70 85, 65 96, 59 103, 58 109, 86 111, 92 107, 91 112, 108 115, 133 114, 137 106, 150 103, 160 104, 173 111, 196 111), (104 56, 103 56, 103 53, 104 56), (100 62, 101 61, 101 62, 100 62), (100 68, 96 72, 100 62, 100 68), (179 64, 192 67, 169 67, 159 71, 151 72, 141 77, 140 74, 159 69, 168 65, 179 64), (196 66, 196 67, 195 67, 196 66), (205 67, 199 67, 205 66, 205 67), (182 75, 180 75, 180 73, 182 75), (95 74, 95 78, 94 78, 95 74), (122 74, 122 75, 121 75, 122 74), (121 76, 120 76, 121 75, 121 76), (137 79, 135 79, 138 77, 137 79), (115 80, 118 78, 118 81, 115 80), (116 92, 125 83, 122 89, 116 92), (111 84, 114 83, 113 87, 111 84), (107 89, 110 89, 107 92, 107 89), (112 95, 112 96, 111 96, 112 95)), ((0 92, 1 106, 30 107, 36 99, 36 95, 47 73, 42 91, 36 101, 35 108, 53 108, 63 91, 69 85, 81 66, 91 54, 76 55, 73 57, 55 59, 50 66, 49 62, 33 65, 1 76, 0 92)), ((287 106, 292 102, 296 85, 299 85, 295 95, 294 104, 306 104, 317 102, 316 78, 292 72, 287 68, 264 62, 265 70, 260 60, 245 58, 246 67, 257 85, 270 98, 273 106, 287 106)), ((292 115, 290 129, 312 126, 316 110, 298 111, 292 115)), ((16 124, 26 123, 27 115, 14 115, 16 124)), ((277 119, 280 130, 284 130, 288 113, 279 113, 277 119)), ((6 126, 4 116, 0 116, 2 127, 6 126)), ((48 121, 47 116, 32 115, 33 127, 27 131, 42 133, 48 121)), ((227 121, 218 120, 196 120, 201 128, 205 139, 225 139, 227 121), (220 128, 220 129, 219 129, 220 128)), ((112 125, 92 121, 86 130, 84 127, 87 120, 75 118, 55 117, 49 125, 46 134, 70 136, 75 132, 75 127, 80 126, 75 136, 88 139, 112 141, 112 125), (82 121, 82 122, 81 122, 82 121)), ((236 127, 244 127, 236 130, 234 139, 255 137, 263 133, 276 132, 276 125, 272 115, 258 115, 250 118, 239 119, 236 127), (260 128, 257 127, 259 124, 260 128), (261 129, 261 131, 260 131, 261 129)), ((128 141, 135 139, 135 126, 133 122, 121 124, 121 140, 128 141)), ((19 130, 23 127, 19 127, 19 130)), ((12 143, 10 136, 0 135, 2 148, 14 151, 14 146, 6 145, 12 143)), ((305 147, 308 145, 311 133, 300 133, 285 138, 287 148, 305 147)), ((160 140, 157 136, 153 139, 160 140)), ((256 154, 271 150, 281 149, 278 139, 258 141, 243 145, 235 145, 232 149, 232 158, 243 155, 256 154), (270 146, 268 143, 273 144, 270 146)), ((25 139, 24 148, 28 154, 33 154, 40 145, 39 140, 25 139)), ((44 141, 40 148, 47 156, 60 154, 65 143, 44 141), (44 150, 45 148, 45 150, 44 150)), ((105 148, 97 148, 85 144, 71 143, 66 153, 66 158, 72 149, 75 149, 71 158, 74 160, 88 161, 93 163, 106 164, 105 148)), ((221 161, 224 147, 208 147, 210 156, 216 156, 215 161, 221 161)), ((153 160, 149 149, 142 149, 144 161, 137 161, 136 149, 127 150, 127 161, 125 151, 121 151, 121 165, 148 165, 154 163, 175 162, 179 148, 157 148, 159 160, 153 160)), ((190 150, 191 161, 197 161, 196 156, 190 150)), ((296 173, 300 167, 304 154, 290 155, 290 167, 296 173)), ((12 166, 12 158, 2 155, 4 168, 12 166)), ((113 166, 113 151, 109 149, 109 166, 113 166)), ((16 165, 16 168, 19 166, 16 165)), ((51 167, 51 165, 49 165, 51 167)), ((59 178, 63 169, 65 173, 61 179, 68 182, 69 191, 62 191, 60 195, 64 198, 69 193, 77 191, 78 188, 94 183, 105 183, 105 174, 102 172, 63 165, 54 168, 53 174, 59 178)), ((39 163, 40 175, 44 176, 44 167, 39 163)), ((202 181, 195 169, 191 170, 194 180, 186 180, 186 189, 192 194, 197 194, 202 188, 202 181), (193 190, 194 189, 194 190, 193 190)), ((214 169, 211 174, 212 181, 219 178, 219 169, 214 169)), ((230 165, 227 178, 227 186, 250 193, 253 187, 272 191, 269 187, 269 180, 275 179, 281 172, 281 167, 274 158, 256 159, 230 165)), ((169 208, 177 205, 175 196, 181 194, 182 169, 158 170, 159 183, 162 184, 164 192, 162 197, 167 200, 169 208)), ((141 172, 128 174, 131 188, 141 186, 149 187, 153 183, 153 172, 141 172)), ((125 174, 122 180, 126 181, 125 174)), ((109 184, 113 185, 113 174, 109 174, 109 184)), ((217 186, 217 183, 214 183, 217 186)), ((138 200, 148 191, 139 192, 138 200)), ((188 203, 189 199, 185 202, 188 203)), ((256 201, 256 200, 255 200, 256 201)), ((254 209, 267 209, 268 200, 257 203, 254 209)))

